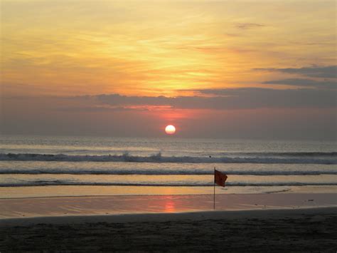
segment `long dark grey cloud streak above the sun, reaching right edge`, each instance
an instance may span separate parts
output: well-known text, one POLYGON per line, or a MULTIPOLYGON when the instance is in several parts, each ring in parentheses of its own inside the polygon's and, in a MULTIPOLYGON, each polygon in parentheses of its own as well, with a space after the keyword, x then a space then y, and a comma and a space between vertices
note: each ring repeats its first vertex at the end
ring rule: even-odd
POLYGON ((329 90, 271 88, 225 88, 195 90, 200 95, 179 96, 127 96, 102 94, 77 99, 92 99, 95 105, 114 107, 168 106, 182 109, 255 109, 255 108, 336 108, 336 93, 329 90), (212 95, 212 96, 205 96, 212 95))

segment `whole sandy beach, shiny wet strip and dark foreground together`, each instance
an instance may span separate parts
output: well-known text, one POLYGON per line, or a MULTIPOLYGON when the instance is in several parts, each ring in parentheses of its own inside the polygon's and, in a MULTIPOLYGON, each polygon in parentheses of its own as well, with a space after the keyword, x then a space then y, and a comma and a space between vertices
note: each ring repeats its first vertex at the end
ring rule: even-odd
POLYGON ((219 195, 215 211, 210 197, 0 200, 0 250, 336 252, 336 195, 219 195))

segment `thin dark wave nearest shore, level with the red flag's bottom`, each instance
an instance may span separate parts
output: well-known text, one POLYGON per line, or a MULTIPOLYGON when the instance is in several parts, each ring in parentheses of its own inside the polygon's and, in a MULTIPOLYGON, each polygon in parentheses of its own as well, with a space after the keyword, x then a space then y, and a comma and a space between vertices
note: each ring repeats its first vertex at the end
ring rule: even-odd
MULTIPOLYGON (((28 186, 52 186, 52 185, 74 185, 74 186, 164 186, 164 187, 209 187, 213 183, 122 183, 122 182, 68 182, 68 181, 36 181, 18 183, 0 183, 0 187, 28 187, 28 186)), ((273 186, 333 186, 337 182, 228 182, 226 186, 254 186, 254 187, 273 187, 273 186)))

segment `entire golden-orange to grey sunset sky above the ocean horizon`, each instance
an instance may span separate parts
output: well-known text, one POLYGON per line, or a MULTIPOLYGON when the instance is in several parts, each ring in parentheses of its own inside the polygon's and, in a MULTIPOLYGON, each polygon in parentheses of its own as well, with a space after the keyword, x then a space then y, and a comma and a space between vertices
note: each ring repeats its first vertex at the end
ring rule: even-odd
POLYGON ((336 140, 336 1, 0 3, 1 134, 336 140))

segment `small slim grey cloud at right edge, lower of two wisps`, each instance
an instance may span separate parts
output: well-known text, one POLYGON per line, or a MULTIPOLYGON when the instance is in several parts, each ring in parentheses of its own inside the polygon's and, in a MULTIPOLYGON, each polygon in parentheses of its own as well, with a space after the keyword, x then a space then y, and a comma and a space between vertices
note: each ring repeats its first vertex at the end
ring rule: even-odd
POLYGON ((336 88, 337 81, 315 81, 311 79, 288 78, 282 80, 265 81, 265 84, 283 84, 286 86, 306 86, 314 88, 336 88))

